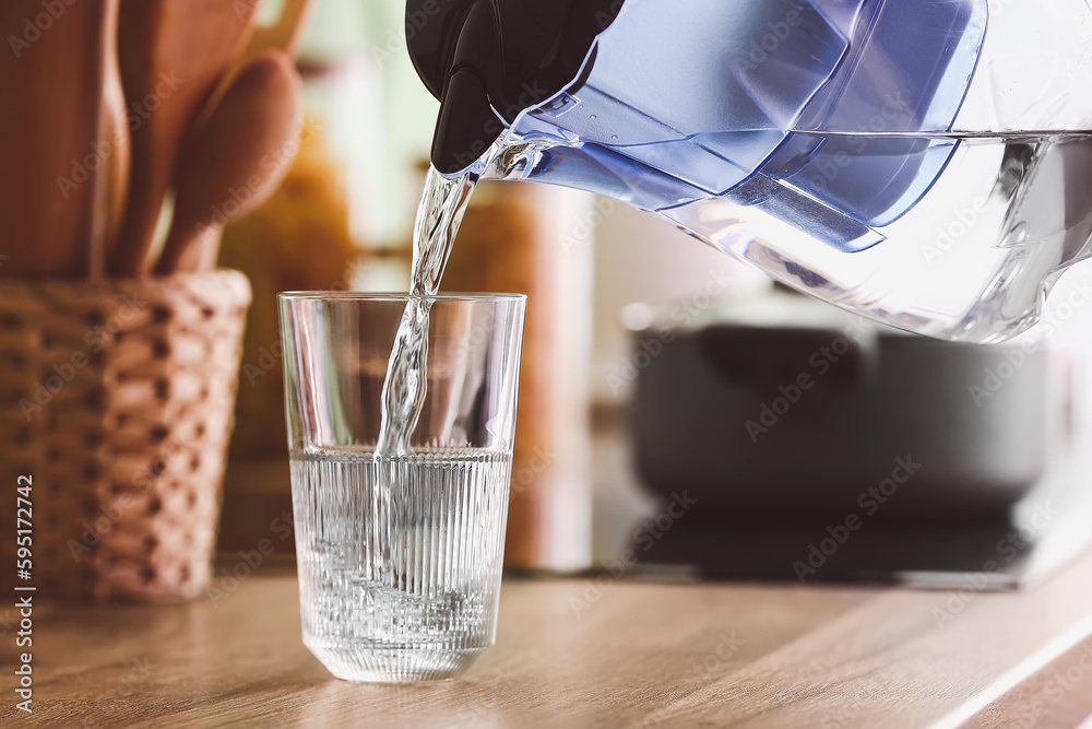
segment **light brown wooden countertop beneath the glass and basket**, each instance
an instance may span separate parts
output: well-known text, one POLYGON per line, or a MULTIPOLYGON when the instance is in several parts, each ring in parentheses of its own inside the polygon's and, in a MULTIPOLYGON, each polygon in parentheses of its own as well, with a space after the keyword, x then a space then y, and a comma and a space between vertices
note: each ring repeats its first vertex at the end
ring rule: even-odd
POLYGON ((407 686, 331 678, 300 644, 296 583, 285 571, 260 568, 217 604, 39 605, 34 715, 14 708, 9 627, 0 719, 1068 729, 1092 714, 1092 555, 1031 592, 962 598, 894 588, 598 583, 507 580, 497 647, 464 679, 407 686))

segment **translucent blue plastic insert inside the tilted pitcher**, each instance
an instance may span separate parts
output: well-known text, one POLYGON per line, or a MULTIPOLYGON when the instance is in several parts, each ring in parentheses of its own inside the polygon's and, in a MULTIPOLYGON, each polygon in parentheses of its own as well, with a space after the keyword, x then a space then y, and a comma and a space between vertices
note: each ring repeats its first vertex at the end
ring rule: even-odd
POLYGON ((954 153, 986 20, 987 0, 628 0, 584 83, 513 131, 570 145, 534 179, 759 205, 862 250, 954 153))

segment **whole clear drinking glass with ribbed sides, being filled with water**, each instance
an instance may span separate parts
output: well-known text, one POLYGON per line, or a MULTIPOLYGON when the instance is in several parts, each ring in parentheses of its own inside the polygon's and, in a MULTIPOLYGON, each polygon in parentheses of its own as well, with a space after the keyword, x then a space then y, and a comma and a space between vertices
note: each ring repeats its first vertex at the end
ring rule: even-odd
POLYGON ((280 302, 304 644, 349 681, 459 675, 496 639, 526 298, 280 302), (391 387, 422 377, 423 407, 377 457, 413 307, 427 345, 391 387))

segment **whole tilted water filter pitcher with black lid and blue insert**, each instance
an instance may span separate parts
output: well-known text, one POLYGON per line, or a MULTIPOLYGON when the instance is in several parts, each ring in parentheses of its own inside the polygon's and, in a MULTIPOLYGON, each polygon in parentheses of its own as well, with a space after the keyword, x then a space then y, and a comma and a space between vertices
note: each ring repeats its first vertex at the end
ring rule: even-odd
POLYGON ((1084 0, 411 0, 410 27, 441 173, 622 200, 871 319, 999 341, 1089 255, 1084 0))

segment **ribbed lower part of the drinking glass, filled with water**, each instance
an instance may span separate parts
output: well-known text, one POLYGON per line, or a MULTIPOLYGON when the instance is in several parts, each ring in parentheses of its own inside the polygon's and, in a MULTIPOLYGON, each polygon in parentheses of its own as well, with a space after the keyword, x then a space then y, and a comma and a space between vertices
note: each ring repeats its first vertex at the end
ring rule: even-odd
POLYGON ((475 449, 293 455, 304 643, 334 675, 451 678, 492 645, 511 465, 475 449))

